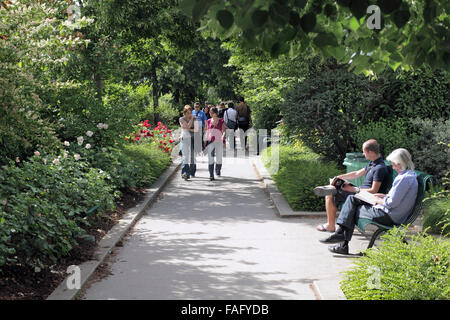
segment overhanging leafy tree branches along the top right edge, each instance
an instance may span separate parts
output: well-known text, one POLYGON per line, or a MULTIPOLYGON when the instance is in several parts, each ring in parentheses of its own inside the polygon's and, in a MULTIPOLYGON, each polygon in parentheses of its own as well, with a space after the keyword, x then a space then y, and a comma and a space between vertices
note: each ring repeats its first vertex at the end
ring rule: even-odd
POLYGON ((445 0, 183 0, 180 8, 209 34, 237 38, 244 47, 274 56, 312 48, 366 74, 386 66, 449 68, 450 4, 445 0), (371 4, 381 9, 379 29, 367 24, 371 4))

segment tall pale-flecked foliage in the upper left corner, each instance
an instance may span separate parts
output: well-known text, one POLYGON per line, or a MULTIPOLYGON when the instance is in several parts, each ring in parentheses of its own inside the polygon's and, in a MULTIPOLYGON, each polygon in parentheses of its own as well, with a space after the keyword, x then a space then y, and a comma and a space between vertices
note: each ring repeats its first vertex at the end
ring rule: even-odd
POLYGON ((67 86, 50 74, 67 61, 70 48, 84 43, 61 16, 65 1, 51 7, 11 1, 6 8, 0 7, 0 164, 30 156, 37 145, 58 147, 58 127, 43 116, 42 96, 67 86))

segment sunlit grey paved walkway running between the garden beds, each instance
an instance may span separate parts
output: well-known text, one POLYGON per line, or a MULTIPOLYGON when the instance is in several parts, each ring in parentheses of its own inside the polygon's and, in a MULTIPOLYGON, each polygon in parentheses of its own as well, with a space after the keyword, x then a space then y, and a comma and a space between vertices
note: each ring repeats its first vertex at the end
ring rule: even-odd
MULTIPOLYGON (((319 243, 325 218, 278 217, 251 158, 224 158, 212 182, 207 158, 198 162, 196 178, 170 181, 83 299, 342 298, 339 273, 355 258, 319 243)), ((355 235, 351 252, 364 245, 355 235)))

